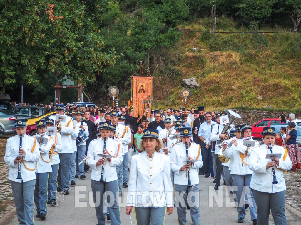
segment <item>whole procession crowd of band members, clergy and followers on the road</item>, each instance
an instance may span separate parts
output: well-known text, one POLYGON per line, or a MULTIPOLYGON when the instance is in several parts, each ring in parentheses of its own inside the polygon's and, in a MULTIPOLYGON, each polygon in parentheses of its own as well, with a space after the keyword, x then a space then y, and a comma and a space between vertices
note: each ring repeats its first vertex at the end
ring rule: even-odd
POLYGON ((230 124, 223 132, 220 117, 227 113, 206 112, 204 106, 152 110, 149 118, 134 117, 126 106, 57 104, 54 110, 56 114, 36 122, 38 137, 47 139, 46 144, 25 134, 22 119, 15 123, 17 135, 8 139, 5 162, 10 166, 20 224, 34 224, 29 201, 33 196, 36 217, 45 220, 46 206, 56 205, 57 192, 69 194, 69 185, 76 185, 76 178, 85 179, 86 173, 91 173, 94 202, 99 202, 96 193, 101 193, 95 207, 98 224, 104 224, 106 217, 111 224, 121 223, 117 199, 122 188, 129 191, 126 213, 135 208, 137 224, 163 224, 165 212, 171 214, 174 207, 179 224, 186 224, 187 208, 193 223, 200 224, 199 176, 213 178, 214 190, 223 179, 228 195, 237 202, 238 223, 244 222, 249 207, 254 225, 267 224, 270 211, 275 224, 286 224, 283 173, 301 169, 293 114, 281 134, 264 128, 259 143, 251 137, 249 124, 230 124), (64 119, 59 120, 60 116, 64 119), (49 126, 57 128, 55 136, 45 133, 49 126), (231 143, 223 144, 226 140, 231 143), (269 153, 281 157, 266 159, 269 153), (272 183, 274 175, 278 184, 272 183), (249 187, 247 193, 245 187, 249 187), (20 192, 24 188, 26 192, 20 192), (114 194, 110 207, 102 197, 108 190, 114 194), (184 193, 184 203, 174 199, 174 192, 184 193))

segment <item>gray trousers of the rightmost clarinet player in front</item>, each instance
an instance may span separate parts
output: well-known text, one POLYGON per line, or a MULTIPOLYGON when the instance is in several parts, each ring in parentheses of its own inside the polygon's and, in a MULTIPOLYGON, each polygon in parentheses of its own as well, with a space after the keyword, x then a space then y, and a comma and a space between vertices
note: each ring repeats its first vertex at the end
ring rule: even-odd
POLYGON ((285 216, 285 190, 276 193, 266 193, 252 189, 254 199, 257 205, 257 223, 259 225, 268 225, 270 211, 275 225, 286 225, 285 216))

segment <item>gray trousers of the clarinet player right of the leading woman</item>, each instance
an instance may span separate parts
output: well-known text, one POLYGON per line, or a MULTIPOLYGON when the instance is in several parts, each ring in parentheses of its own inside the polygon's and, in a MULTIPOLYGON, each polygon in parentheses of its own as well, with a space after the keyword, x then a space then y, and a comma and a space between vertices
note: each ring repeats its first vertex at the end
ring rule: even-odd
POLYGON ((179 225, 186 224, 186 205, 187 200, 190 206, 191 220, 193 224, 200 224, 200 194, 199 194, 199 184, 194 184, 192 187, 187 187, 187 185, 175 184, 177 214, 179 225), (184 195, 183 195, 184 193, 184 195), (184 205, 180 196, 184 199, 184 205))

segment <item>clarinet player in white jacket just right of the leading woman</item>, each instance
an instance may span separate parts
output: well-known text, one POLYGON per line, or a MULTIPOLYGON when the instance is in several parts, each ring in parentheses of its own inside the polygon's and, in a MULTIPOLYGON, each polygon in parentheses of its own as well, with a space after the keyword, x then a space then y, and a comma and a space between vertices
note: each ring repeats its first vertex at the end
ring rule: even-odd
POLYGON ((203 165, 201 147, 196 143, 190 142, 192 136, 191 128, 181 128, 180 135, 182 137, 182 142, 173 146, 170 155, 171 169, 175 172, 175 191, 185 192, 183 196, 185 205, 182 205, 182 202, 179 201, 179 199, 176 201, 179 204, 177 206, 178 222, 180 225, 186 224, 186 205, 188 200, 192 222, 193 224, 200 224, 198 170, 203 165), (188 160, 194 160, 194 162, 187 164, 186 161, 188 160), (190 187, 188 187, 189 177, 192 185, 190 187), (192 196, 194 196, 194 199, 192 199, 192 196), (194 205, 191 205, 192 202, 194 202, 194 205))

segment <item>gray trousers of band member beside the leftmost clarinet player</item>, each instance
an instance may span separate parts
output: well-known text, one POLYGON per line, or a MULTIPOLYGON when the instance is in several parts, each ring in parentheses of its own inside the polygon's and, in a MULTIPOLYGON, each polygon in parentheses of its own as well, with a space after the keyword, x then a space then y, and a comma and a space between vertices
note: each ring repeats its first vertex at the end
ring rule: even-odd
POLYGON ((48 176, 49 173, 36 173, 35 205, 38 213, 47 214, 48 199, 48 176))

